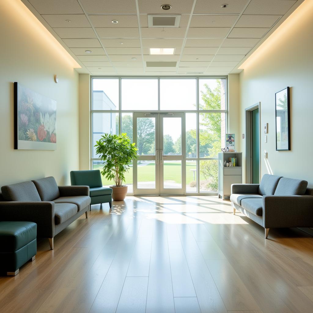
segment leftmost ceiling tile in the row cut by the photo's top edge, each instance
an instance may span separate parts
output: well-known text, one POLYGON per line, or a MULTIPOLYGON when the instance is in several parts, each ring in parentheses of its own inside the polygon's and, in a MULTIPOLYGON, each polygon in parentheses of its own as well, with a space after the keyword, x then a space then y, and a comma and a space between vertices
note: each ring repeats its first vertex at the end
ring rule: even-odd
POLYGON ((40 14, 84 13, 76 0, 28 0, 40 14))

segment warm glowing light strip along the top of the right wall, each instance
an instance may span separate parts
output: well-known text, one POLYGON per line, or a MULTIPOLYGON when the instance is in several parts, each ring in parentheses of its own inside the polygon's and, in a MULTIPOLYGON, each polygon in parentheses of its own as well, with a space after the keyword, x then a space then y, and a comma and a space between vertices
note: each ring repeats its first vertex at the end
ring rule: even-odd
POLYGON ((254 64, 260 57, 264 57, 264 54, 268 53, 271 49, 276 49, 282 41, 289 36, 291 30, 295 30, 300 27, 300 22, 305 16, 312 15, 313 1, 305 0, 290 14, 288 18, 267 38, 258 49, 250 55, 248 59, 244 61, 239 69, 247 69, 250 65, 254 64))

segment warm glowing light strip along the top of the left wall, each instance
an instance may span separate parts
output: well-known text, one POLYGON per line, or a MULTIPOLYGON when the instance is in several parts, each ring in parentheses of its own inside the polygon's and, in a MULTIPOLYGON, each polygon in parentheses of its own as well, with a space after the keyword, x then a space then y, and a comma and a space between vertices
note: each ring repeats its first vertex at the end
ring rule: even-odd
POLYGON ((81 66, 72 58, 72 56, 62 47, 53 35, 44 27, 42 23, 33 15, 31 11, 20 0, 3 1, 2 8, 6 14, 10 16, 12 23, 22 23, 23 28, 34 34, 37 40, 43 45, 49 47, 51 51, 60 59, 63 59, 72 68, 81 68, 81 66))

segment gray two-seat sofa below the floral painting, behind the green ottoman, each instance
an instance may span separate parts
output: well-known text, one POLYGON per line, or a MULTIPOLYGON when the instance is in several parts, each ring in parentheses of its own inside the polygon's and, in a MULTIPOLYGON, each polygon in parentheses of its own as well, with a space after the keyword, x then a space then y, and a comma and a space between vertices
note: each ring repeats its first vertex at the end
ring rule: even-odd
POLYGON ((58 186, 54 177, 1 187, 0 220, 37 224, 37 236, 53 238, 90 206, 88 186, 58 186))

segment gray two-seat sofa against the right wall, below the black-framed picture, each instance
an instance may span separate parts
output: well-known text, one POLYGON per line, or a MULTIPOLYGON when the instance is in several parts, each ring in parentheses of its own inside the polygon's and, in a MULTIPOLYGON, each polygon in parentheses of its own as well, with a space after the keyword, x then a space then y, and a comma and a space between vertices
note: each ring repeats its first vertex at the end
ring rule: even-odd
POLYGON ((313 191, 304 180, 265 174, 260 184, 233 184, 236 210, 265 228, 313 227, 313 191))

